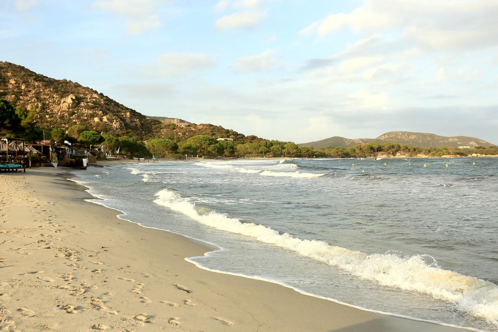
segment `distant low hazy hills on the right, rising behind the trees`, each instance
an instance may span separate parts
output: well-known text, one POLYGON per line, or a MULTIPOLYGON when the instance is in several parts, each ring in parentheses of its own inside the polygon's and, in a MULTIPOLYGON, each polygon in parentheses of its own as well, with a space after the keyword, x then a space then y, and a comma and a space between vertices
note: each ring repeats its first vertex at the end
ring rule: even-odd
POLYGON ((300 143, 299 146, 315 147, 315 148, 327 148, 331 146, 341 146, 344 148, 353 147, 356 144, 368 144, 368 143, 398 143, 406 144, 414 147, 431 148, 431 147, 441 147, 441 146, 470 146, 474 147, 476 145, 489 146, 493 145, 483 139, 469 136, 440 136, 425 132, 411 132, 411 131, 389 131, 377 138, 357 138, 349 139, 340 136, 333 136, 325 138, 319 141, 300 143))

